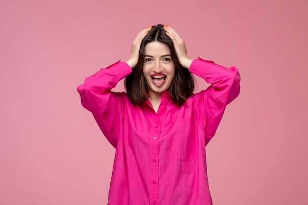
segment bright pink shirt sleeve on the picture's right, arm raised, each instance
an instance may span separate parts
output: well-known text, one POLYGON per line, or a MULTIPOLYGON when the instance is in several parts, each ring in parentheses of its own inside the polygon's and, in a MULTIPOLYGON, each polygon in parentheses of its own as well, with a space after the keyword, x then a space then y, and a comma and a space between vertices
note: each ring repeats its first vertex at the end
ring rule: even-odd
POLYGON ((206 144, 216 133, 226 105, 240 93, 240 74, 236 67, 227 68, 214 61, 194 59, 189 71, 211 84, 193 95, 196 115, 205 129, 206 144))

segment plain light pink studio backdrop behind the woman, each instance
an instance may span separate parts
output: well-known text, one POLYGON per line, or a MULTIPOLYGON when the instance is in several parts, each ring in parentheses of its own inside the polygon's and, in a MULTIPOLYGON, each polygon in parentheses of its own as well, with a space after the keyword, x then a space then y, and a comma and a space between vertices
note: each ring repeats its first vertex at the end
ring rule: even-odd
POLYGON ((214 204, 307 205, 307 10, 307 0, 0 0, 0 205, 107 204, 115 150, 76 87, 157 23, 179 31, 190 58, 242 76, 207 146, 214 204))

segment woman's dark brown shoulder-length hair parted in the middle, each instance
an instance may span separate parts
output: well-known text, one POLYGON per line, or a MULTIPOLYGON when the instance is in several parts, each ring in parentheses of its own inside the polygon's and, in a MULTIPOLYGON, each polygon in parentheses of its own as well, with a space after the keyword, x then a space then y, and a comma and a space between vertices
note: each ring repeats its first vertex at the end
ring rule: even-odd
POLYGON ((149 86, 143 75, 145 47, 148 43, 153 41, 164 43, 170 48, 171 59, 175 65, 175 74, 168 90, 173 103, 183 104, 194 90, 194 81, 188 69, 181 65, 172 39, 166 34, 161 24, 153 26, 149 33, 143 38, 140 45, 137 65, 133 68, 132 73, 124 80, 128 98, 135 104, 141 104, 146 100, 146 93, 149 92, 149 86))

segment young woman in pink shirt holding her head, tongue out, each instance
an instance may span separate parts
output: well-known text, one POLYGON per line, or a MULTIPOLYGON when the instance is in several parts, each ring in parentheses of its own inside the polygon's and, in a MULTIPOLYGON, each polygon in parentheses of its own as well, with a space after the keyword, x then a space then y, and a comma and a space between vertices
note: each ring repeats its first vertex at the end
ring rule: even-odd
POLYGON ((116 148, 108 205, 212 205, 205 146, 240 92, 236 67, 189 59, 170 26, 143 29, 130 58, 78 87, 116 148), (212 84, 193 94, 194 73, 212 84), (127 93, 112 92, 125 78, 127 93))

